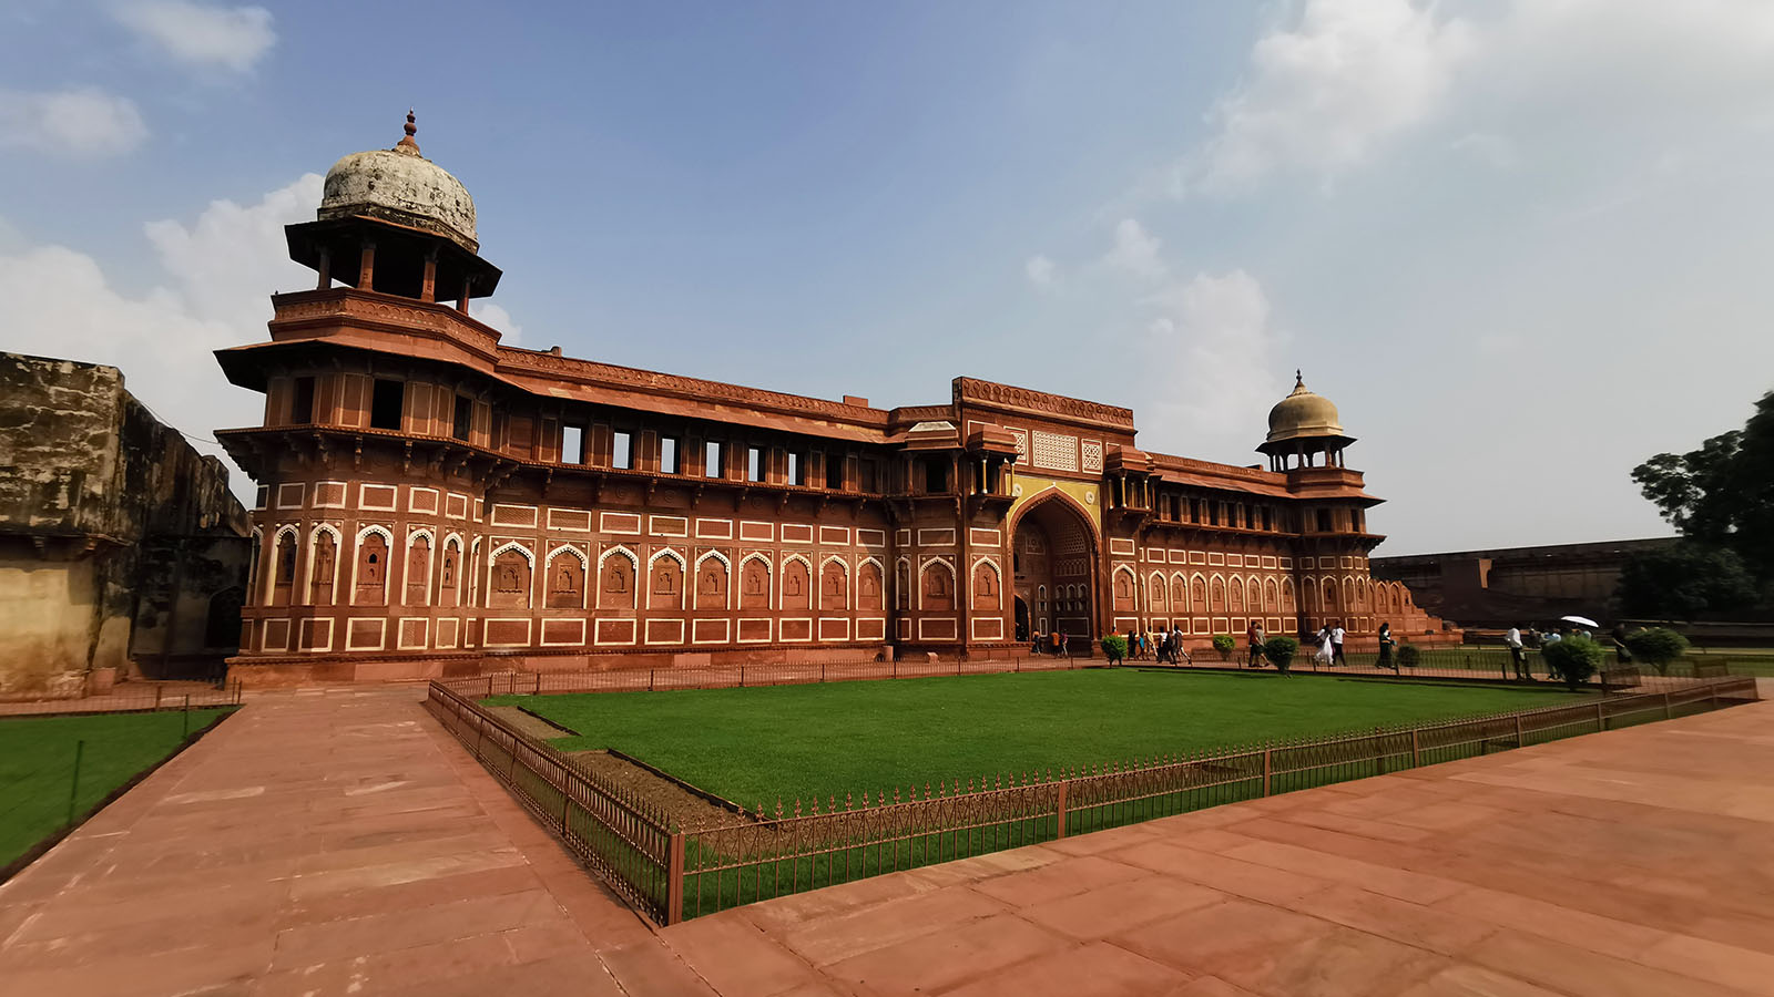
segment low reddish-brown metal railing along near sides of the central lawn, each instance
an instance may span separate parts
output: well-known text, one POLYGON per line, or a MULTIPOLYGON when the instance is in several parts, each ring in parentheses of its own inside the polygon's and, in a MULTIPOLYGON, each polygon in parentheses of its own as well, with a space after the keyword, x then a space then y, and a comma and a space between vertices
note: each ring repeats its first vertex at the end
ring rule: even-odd
POLYGON ((1753 678, 1689 679, 1660 692, 1440 724, 1001 775, 990 784, 926 784, 894 789, 891 798, 864 791, 828 798, 823 813, 818 800, 797 802, 793 813, 779 804, 775 814, 685 828, 470 699, 538 687, 451 685, 433 681, 428 708, 612 889, 662 924, 878 873, 1756 699, 1753 678))

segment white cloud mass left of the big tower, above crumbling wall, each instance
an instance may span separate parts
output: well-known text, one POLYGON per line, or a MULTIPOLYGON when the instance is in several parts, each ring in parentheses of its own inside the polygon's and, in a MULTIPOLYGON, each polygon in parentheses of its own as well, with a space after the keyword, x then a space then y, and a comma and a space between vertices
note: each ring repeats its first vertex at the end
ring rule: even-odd
MULTIPOLYGON (((165 280, 142 294, 115 289, 96 259, 67 247, 0 255, 0 349, 112 364, 131 394, 192 436, 257 424, 259 397, 220 387, 211 351, 264 341, 268 294, 312 280, 289 261, 282 227, 312 218, 319 197, 321 177, 307 174, 257 204, 216 200, 192 225, 149 224, 165 280)), ((234 486, 245 491, 245 475, 234 486)))

